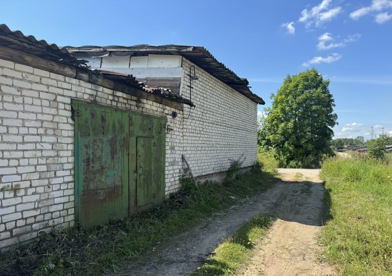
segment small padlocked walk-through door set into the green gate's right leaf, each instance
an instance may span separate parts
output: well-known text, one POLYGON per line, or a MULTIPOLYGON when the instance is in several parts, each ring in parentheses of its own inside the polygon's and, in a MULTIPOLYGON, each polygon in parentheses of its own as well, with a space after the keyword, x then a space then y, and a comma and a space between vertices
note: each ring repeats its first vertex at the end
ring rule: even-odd
POLYGON ((136 139, 136 207, 154 202, 155 151, 154 138, 136 139))

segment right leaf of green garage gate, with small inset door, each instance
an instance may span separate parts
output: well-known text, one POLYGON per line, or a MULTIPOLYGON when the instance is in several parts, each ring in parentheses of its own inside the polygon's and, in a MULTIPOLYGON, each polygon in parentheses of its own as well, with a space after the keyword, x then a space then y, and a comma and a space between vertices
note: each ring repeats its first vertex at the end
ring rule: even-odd
POLYGON ((158 205, 165 197, 166 122, 141 114, 129 117, 130 214, 158 205))

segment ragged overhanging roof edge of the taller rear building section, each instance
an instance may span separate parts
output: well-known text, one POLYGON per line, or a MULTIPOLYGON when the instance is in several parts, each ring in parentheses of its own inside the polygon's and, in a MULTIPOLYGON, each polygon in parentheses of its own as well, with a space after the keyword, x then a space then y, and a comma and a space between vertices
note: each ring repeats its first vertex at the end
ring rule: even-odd
POLYGON ((234 90, 258 104, 265 104, 263 99, 250 91, 249 81, 238 77, 236 73, 227 68, 225 64, 219 62, 207 49, 202 46, 185 45, 136 45, 136 46, 65 46, 71 53, 81 52, 124 52, 129 51, 129 55, 138 56, 146 54, 167 54, 180 55, 187 58, 200 68, 204 69, 212 76, 221 80, 234 90))

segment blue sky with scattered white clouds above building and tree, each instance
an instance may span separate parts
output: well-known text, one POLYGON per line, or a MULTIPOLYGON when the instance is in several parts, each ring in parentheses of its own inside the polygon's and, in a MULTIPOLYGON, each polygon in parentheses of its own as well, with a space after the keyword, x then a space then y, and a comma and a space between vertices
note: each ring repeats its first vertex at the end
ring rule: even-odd
POLYGON ((204 46, 266 106, 285 75, 314 66, 331 80, 335 137, 392 135, 392 0, 91 3, 3 1, 0 21, 59 46, 204 46))

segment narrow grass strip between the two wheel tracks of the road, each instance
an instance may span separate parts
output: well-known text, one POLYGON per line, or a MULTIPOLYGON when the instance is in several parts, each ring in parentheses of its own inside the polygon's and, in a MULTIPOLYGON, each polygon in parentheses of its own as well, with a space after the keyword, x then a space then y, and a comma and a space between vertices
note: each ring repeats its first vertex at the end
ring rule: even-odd
POLYGON ((254 245, 272 225, 267 215, 255 216, 241 227, 232 237, 223 240, 215 254, 194 272, 194 276, 232 276, 236 270, 252 258, 254 245))

